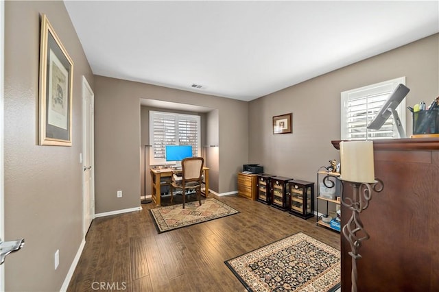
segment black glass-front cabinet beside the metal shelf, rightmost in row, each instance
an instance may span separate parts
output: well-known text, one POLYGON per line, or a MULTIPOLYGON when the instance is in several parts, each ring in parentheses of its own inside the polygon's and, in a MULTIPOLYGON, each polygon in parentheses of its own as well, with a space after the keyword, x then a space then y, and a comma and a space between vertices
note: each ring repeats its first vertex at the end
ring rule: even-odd
POLYGON ((302 219, 314 217, 314 183, 289 181, 289 212, 302 219))

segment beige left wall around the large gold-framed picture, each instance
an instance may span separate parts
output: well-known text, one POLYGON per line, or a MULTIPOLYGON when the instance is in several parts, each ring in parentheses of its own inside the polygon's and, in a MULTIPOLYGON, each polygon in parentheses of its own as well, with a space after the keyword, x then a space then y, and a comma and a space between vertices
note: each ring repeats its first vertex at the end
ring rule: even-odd
POLYGON ((82 242, 82 75, 93 74, 62 1, 5 1, 6 291, 59 291, 82 242), (71 147, 38 146, 39 14, 74 62, 71 147), (54 254, 60 265, 54 269, 54 254))

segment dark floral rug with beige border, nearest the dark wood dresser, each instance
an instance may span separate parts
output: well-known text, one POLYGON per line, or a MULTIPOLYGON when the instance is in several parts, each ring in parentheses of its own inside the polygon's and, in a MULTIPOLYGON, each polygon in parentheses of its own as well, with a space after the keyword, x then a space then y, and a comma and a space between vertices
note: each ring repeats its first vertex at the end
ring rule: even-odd
POLYGON ((335 291, 340 252, 301 232, 226 260, 248 291, 335 291))

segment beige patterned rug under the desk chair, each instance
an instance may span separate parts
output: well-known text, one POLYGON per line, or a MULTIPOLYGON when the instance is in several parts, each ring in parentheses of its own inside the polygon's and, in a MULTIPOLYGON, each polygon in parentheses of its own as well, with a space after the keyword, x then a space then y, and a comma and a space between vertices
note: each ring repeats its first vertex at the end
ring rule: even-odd
POLYGON ((239 213, 217 199, 204 199, 201 203, 186 203, 184 209, 182 204, 151 209, 158 233, 239 213))

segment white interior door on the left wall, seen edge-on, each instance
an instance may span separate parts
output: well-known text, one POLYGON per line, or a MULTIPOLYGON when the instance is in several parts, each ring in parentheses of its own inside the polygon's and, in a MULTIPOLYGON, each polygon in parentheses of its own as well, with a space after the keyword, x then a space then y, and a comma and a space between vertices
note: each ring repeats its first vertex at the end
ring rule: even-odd
POLYGON ((84 196, 84 236, 95 217, 95 167, 94 167, 94 98, 93 90, 86 78, 82 77, 82 119, 84 125, 83 153, 83 196, 84 196))

